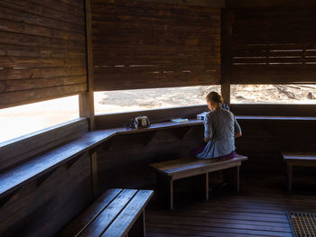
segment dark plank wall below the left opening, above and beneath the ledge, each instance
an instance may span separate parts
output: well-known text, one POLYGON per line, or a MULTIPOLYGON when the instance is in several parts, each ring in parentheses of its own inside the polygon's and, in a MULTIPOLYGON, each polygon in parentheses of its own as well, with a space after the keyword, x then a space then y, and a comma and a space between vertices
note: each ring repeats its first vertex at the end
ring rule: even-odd
MULTIPOLYGON (((0 147, 0 172, 78 138, 88 120, 78 119, 0 147)), ((41 164, 39 164, 41 165, 41 164)), ((52 236, 92 200, 88 152, 27 181, 0 199, 0 236, 52 236)))

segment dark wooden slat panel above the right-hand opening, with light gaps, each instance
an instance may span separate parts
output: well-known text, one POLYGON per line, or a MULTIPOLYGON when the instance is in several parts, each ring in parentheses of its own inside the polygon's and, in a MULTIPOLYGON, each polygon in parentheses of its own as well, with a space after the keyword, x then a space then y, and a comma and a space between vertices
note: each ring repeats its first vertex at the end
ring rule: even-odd
POLYGON ((232 84, 315 83, 315 6, 232 9, 232 84))

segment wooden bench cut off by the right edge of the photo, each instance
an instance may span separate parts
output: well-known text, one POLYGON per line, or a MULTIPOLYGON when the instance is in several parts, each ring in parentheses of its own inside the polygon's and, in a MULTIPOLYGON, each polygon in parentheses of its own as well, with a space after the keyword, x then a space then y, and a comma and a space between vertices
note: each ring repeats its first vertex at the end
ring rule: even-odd
POLYGON ((316 167, 316 152, 283 152, 282 155, 287 163, 288 190, 291 194, 293 189, 293 167, 316 167))

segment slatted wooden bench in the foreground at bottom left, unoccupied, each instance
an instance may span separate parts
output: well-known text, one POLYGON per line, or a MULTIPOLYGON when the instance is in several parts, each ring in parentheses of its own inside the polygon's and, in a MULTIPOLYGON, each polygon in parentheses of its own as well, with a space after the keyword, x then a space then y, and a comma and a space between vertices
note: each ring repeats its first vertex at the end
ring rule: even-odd
POLYGON ((144 207, 152 190, 108 189, 58 236, 145 236, 144 207))

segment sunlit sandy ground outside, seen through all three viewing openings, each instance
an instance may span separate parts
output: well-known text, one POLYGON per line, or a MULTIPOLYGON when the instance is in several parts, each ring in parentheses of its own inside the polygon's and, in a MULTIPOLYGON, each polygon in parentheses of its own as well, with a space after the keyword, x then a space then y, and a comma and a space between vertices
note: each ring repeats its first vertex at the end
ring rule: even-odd
MULTIPOLYGON (((95 93, 96 114, 154 108, 204 105, 209 91, 219 86, 172 87, 95 93)), ((232 85, 232 104, 314 104, 316 85, 232 85)), ((0 142, 79 117, 78 96, 0 110, 0 142)), ((4 145, 0 143, 0 146, 4 145)))

